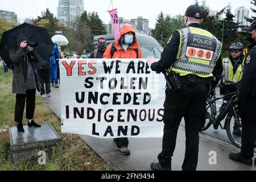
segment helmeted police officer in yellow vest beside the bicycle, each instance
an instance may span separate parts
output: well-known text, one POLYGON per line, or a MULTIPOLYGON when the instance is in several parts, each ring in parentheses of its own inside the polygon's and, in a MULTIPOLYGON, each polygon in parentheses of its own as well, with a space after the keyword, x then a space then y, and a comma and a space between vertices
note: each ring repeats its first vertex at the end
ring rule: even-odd
MULTIPOLYGON (((243 75, 243 44, 240 42, 235 42, 229 47, 230 56, 223 59, 223 73, 220 83, 220 95, 228 95, 230 93, 236 92, 236 86, 230 84, 230 82, 240 82, 243 75)), ((223 104, 220 107, 220 113, 222 113, 232 96, 225 96, 223 104)), ((220 116, 221 114, 219 114, 220 116)), ((218 129, 220 122, 215 122, 213 127, 215 130, 218 129)), ((240 126, 234 125, 233 134, 241 137, 240 126)))

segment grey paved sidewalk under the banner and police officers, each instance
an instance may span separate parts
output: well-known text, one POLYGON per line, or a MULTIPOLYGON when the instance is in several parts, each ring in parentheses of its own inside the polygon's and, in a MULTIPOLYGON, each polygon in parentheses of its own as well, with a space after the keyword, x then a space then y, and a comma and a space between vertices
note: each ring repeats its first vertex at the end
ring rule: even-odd
MULTIPOLYGON (((52 97, 44 98, 49 108, 60 117, 60 89, 52 88, 52 97)), ((172 158, 172 170, 180 171, 185 154, 185 131, 180 126, 176 149, 172 158)), ((158 162, 157 156, 162 149, 162 138, 130 139, 130 156, 123 156, 115 148, 113 139, 98 139, 79 136, 102 159, 117 171, 148 171, 152 162, 158 162)), ((221 140, 200 134, 198 171, 256 171, 256 166, 233 162, 229 152, 238 152, 239 148, 221 140), (209 164, 209 152, 216 152, 217 164, 209 164)), ((256 156, 256 155, 255 155, 256 156)))

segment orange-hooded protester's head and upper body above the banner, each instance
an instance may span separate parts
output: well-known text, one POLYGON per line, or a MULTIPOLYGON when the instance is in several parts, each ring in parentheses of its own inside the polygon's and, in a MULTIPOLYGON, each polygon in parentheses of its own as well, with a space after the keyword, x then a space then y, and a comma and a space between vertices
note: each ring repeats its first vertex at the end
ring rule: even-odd
POLYGON ((120 32, 119 38, 115 41, 115 51, 113 56, 111 51, 113 50, 113 43, 111 43, 106 49, 103 58, 119 58, 119 59, 134 59, 142 58, 141 48, 137 42, 134 26, 130 24, 124 24, 120 32))

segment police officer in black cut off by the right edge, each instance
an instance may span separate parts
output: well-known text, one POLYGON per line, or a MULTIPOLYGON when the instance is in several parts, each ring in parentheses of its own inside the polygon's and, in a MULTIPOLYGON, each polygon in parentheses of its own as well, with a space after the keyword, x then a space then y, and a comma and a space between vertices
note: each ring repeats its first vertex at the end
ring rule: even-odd
POLYGON ((252 44, 243 63, 245 68, 238 97, 242 110, 242 147, 240 153, 230 153, 229 156, 232 160, 251 165, 256 138, 256 20, 243 30, 249 31, 246 38, 252 44))

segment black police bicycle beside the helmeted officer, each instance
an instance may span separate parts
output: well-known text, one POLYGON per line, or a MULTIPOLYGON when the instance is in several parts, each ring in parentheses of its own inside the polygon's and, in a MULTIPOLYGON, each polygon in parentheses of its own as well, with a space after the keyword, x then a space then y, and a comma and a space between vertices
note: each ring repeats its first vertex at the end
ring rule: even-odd
POLYGON ((219 125, 222 130, 226 130, 230 141, 237 147, 241 147, 241 135, 237 135, 233 132, 234 129, 242 131, 242 124, 241 124, 241 114, 240 111, 237 109, 237 98, 239 92, 240 84, 235 82, 229 82, 230 85, 236 87, 237 92, 227 94, 222 97, 216 98, 216 91, 215 89, 210 89, 208 98, 207 98, 207 113, 205 119, 205 125, 201 131, 207 130, 211 125, 219 125), (228 105, 225 107, 221 113, 218 113, 216 107, 216 101, 221 100, 224 97, 232 96, 228 105), (226 118, 226 119, 225 119, 226 118), (225 119, 225 123, 222 126, 222 120, 225 119))

